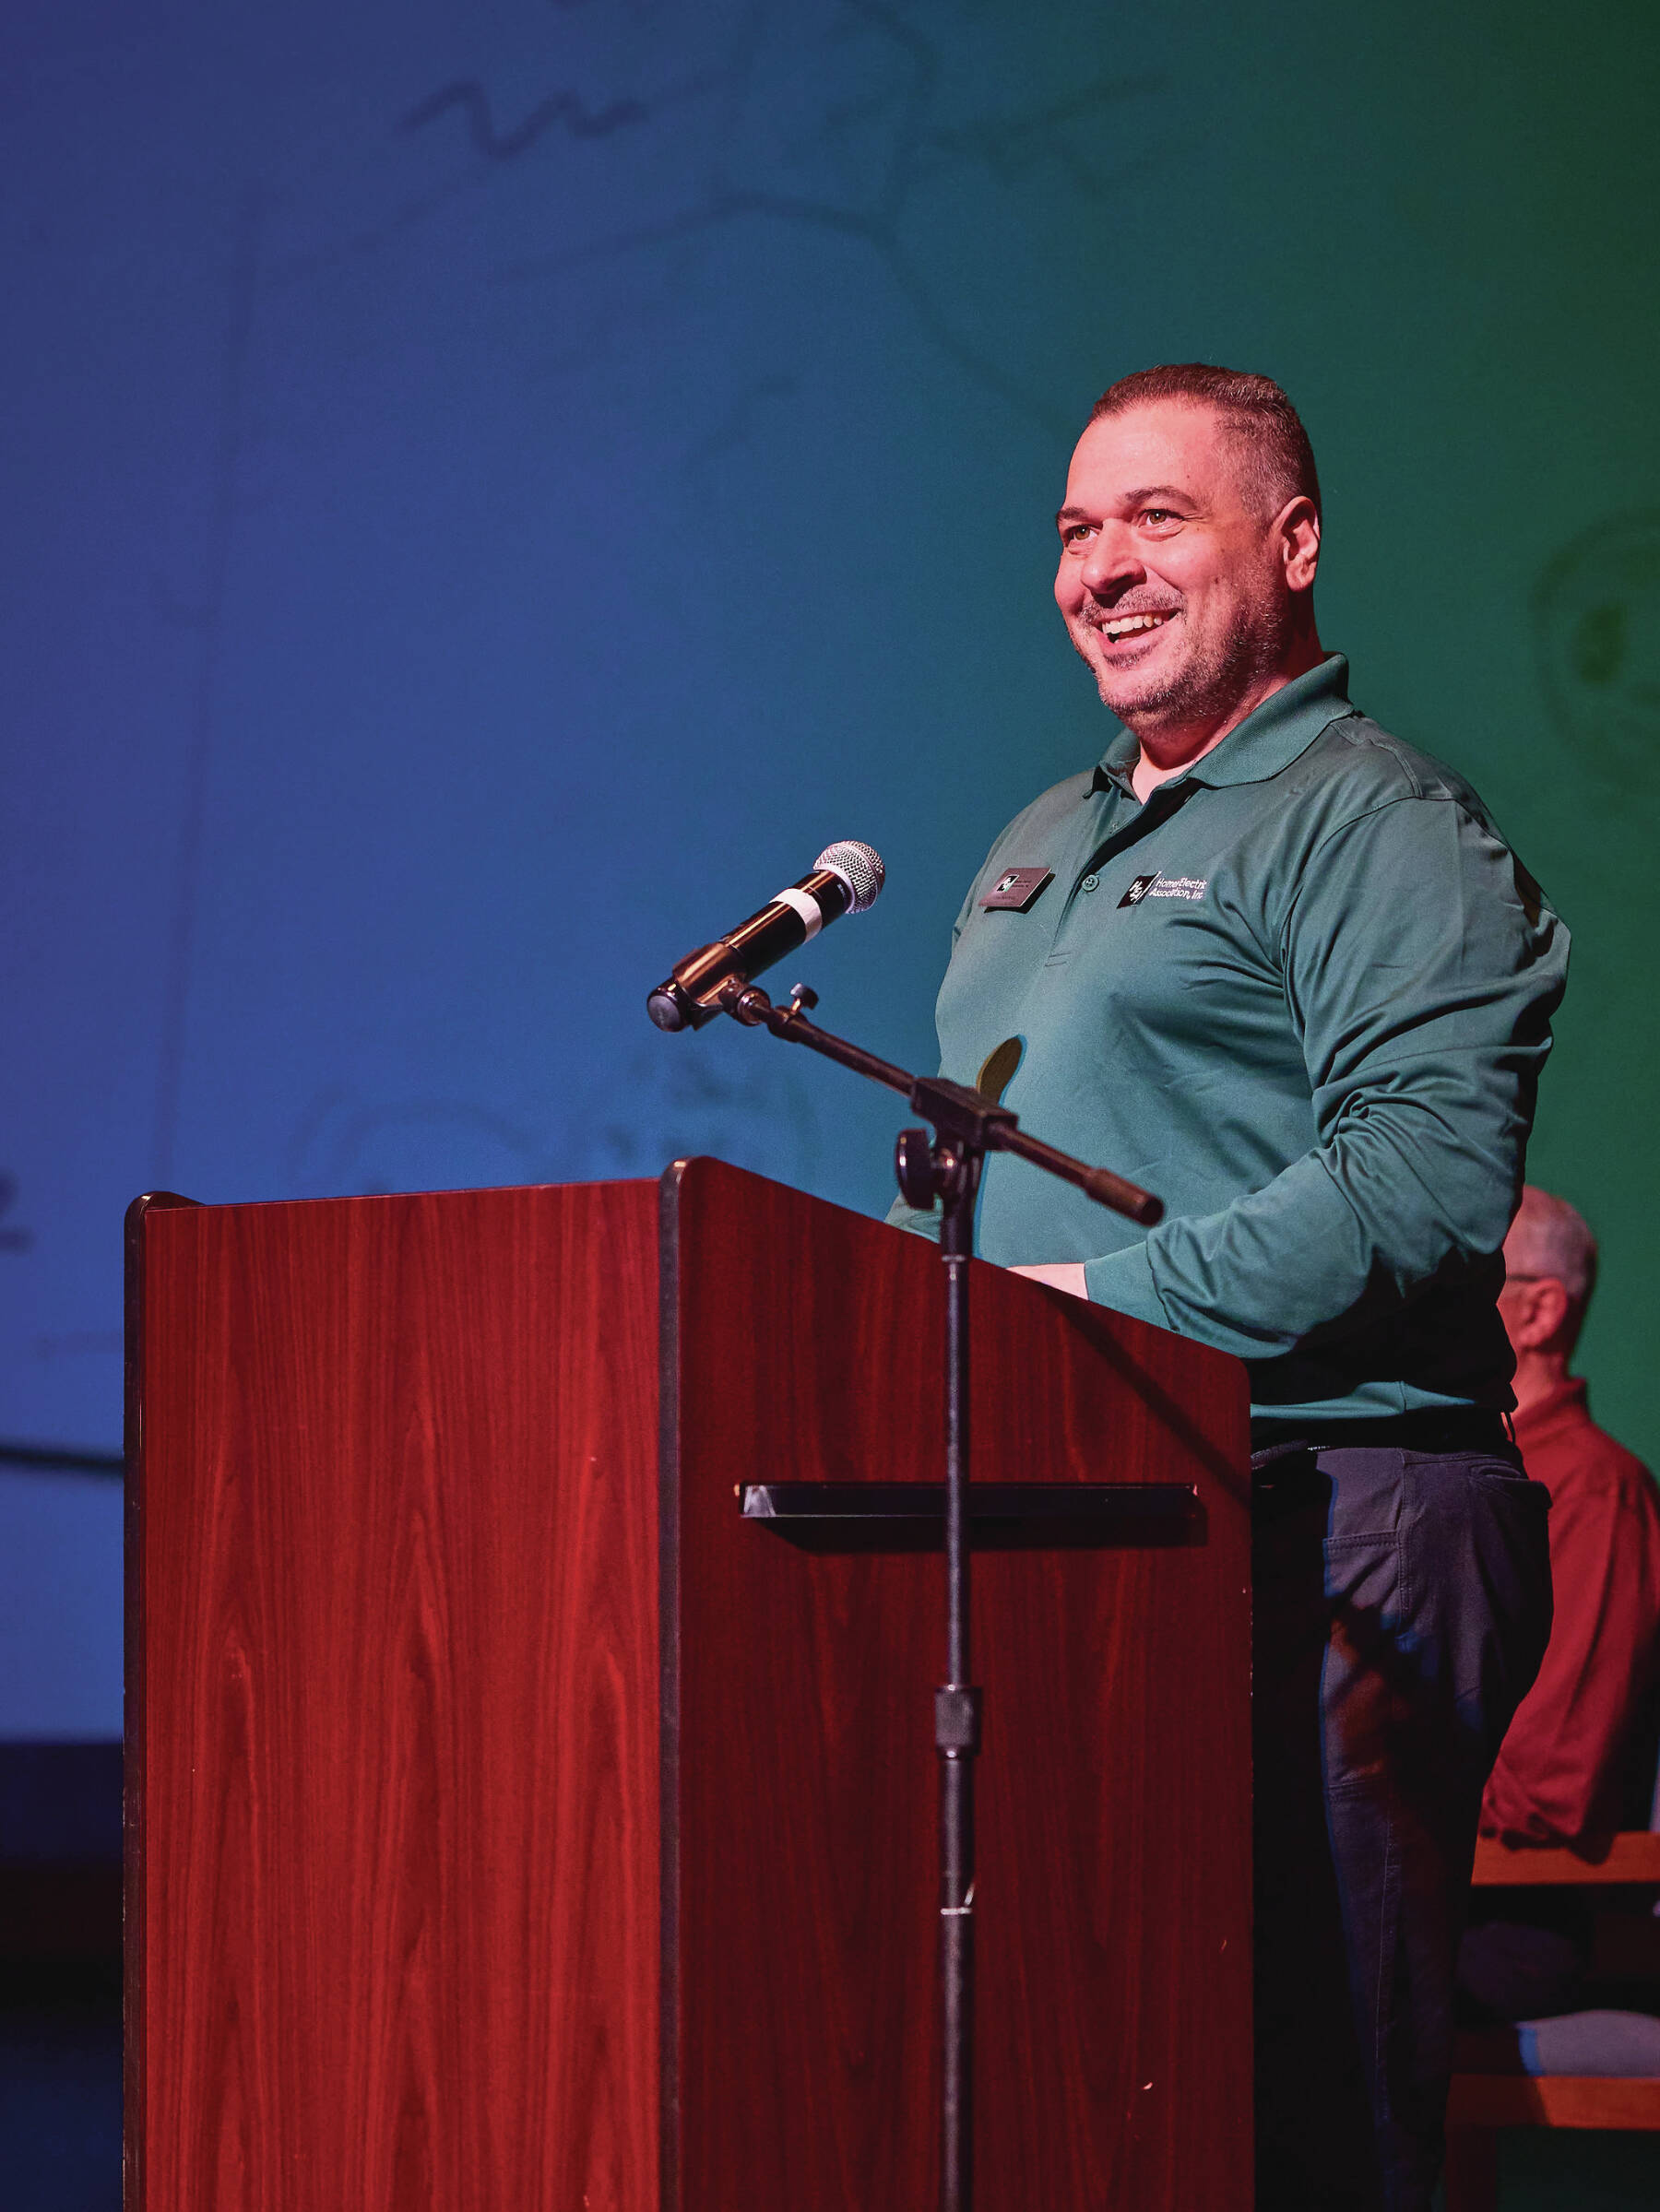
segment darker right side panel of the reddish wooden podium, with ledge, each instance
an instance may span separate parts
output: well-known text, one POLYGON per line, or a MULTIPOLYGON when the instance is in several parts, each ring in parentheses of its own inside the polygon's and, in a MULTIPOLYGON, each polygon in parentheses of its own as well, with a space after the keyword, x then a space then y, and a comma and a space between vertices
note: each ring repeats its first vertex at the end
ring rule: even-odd
MULTIPOLYGON (((735 1486, 932 1480, 941 1265, 713 1161, 671 1192, 677 1929, 666 2212, 936 2192, 936 1555, 815 1555, 735 1486)), ((1244 1369, 974 1279, 974 1478, 1191 1480, 1191 1548, 981 1553, 983 2212, 1251 2201, 1244 1369)))

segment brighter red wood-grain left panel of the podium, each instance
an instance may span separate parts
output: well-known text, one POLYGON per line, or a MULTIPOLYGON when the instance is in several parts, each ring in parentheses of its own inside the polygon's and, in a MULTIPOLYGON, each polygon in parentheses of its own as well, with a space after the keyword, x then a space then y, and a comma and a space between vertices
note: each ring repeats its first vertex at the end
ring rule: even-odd
POLYGON ((142 1217, 128 2212, 655 2205, 655 1237, 142 1217))

